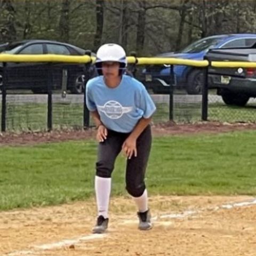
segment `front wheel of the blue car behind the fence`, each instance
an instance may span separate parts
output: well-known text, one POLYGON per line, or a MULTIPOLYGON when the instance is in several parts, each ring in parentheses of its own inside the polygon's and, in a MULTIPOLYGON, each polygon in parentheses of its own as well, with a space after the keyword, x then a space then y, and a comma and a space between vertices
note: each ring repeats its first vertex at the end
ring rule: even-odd
POLYGON ((194 69, 187 77, 187 93, 188 94, 202 94, 203 89, 203 72, 202 70, 194 69))

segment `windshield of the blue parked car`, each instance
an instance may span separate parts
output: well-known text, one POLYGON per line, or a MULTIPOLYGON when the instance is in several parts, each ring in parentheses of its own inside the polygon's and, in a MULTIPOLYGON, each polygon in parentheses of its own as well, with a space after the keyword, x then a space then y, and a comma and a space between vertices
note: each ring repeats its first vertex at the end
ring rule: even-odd
POLYGON ((214 48, 215 45, 220 43, 223 40, 223 37, 210 37, 200 39, 190 45, 188 45, 185 49, 179 51, 181 53, 195 53, 202 52, 208 50, 210 48, 214 48))

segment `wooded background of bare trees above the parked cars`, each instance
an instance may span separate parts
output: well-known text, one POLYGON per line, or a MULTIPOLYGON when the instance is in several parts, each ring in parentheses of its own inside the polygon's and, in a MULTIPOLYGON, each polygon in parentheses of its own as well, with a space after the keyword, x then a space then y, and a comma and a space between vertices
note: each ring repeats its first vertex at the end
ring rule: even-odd
POLYGON ((255 0, 1 0, 0 42, 50 39, 97 50, 121 44, 138 56, 196 39, 256 33, 255 0))

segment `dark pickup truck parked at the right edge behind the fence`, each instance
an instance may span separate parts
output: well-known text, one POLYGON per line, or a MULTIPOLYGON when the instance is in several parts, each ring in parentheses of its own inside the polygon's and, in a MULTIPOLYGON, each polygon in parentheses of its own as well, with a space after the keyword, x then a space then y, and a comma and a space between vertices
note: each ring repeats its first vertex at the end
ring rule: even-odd
MULTIPOLYGON (((213 49, 206 57, 210 61, 256 62, 256 49, 213 49)), ((208 77, 211 87, 217 88, 227 105, 245 106, 251 97, 256 97, 256 68, 210 66, 208 77)))

